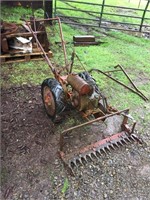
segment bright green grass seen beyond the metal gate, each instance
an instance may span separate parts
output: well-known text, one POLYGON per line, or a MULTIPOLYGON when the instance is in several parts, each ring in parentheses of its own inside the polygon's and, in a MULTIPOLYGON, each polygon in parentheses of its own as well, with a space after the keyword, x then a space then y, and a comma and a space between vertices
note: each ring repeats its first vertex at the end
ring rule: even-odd
MULTIPOLYGON (((87 2, 87 0, 84 0, 82 2, 87 2)), ((92 3, 96 3, 96 4, 102 4, 102 1, 99 0, 94 0, 91 1, 92 3)), ((127 8, 136 8, 138 7, 138 4, 135 4, 135 2, 133 3, 132 1, 129 3, 127 0, 123 0, 123 1, 113 1, 113 0, 108 0, 105 2, 106 5, 112 5, 112 6, 121 6, 121 7, 127 7, 127 8)), ((145 8, 145 3, 141 4, 140 9, 144 9, 145 8)), ((65 4, 63 1, 57 1, 57 6, 60 8, 66 8, 66 9, 72 9, 72 8, 76 8, 79 11, 74 11, 74 10, 62 10, 62 9, 58 9, 58 13, 63 14, 65 16, 76 16, 76 17, 83 17, 83 18, 91 18, 91 19, 99 19, 100 17, 100 12, 101 12, 101 6, 99 5, 89 5, 89 4, 82 4, 82 3, 67 3, 65 4), (83 12, 81 10, 85 10, 85 11, 89 11, 87 12, 83 12), (98 12, 98 13, 91 13, 91 12, 98 12)), ((149 6, 150 8, 150 6, 149 6)), ((148 8, 148 9, 149 9, 148 8)), ((126 16, 139 16, 142 17, 143 15, 143 11, 132 11, 132 10, 127 10, 127 9, 123 9, 123 8, 112 8, 112 7, 104 7, 104 13, 110 13, 110 14, 121 14, 121 15, 126 15, 126 16)), ((132 23, 132 24, 140 24, 141 19, 137 19, 137 18, 132 18, 132 17, 123 17, 123 16, 112 16, 112 15, 107 15, 107 14, 103 14, 103 19, 105 20, 110 20, 110 21, 114 21, 114 22, 126 22, 126 23, 132 23)), ((147 18, 150 18, 150 12, 146 13, 147 18)), ((78 22, 83 23, 83 24, 91 24, 94 23, 93 20, 87 21, 84 19, 80 19, 78 20, 78 22)), ((150 24, 149 20, 145 20, 146 23, 150 24)), ((99 22, 95 22, 95 24, 98 24, 99 22)))

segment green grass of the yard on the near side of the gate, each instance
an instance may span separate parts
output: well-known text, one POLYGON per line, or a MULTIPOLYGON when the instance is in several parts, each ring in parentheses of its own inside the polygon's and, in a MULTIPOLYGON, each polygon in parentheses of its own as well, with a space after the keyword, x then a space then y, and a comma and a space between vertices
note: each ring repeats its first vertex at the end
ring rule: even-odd
MULTIPOLYGON (((29 9, 17 8, 16 12, 13 9, 11 9, 11 12, 14 13, 15 19, 19 19, 20 13, 29 13, 29 9)), ((5 20, 9 21, 9 8, 2 7, 1 11, 2 16, 5 16, 5 20)), ((100 32, 101 30, 96 28, 85 29, 66 24, 63 24, 62 28, 65 41, 69 42, 66 44, 69 61, 71 53, 75 49, 87 70, 98 68, 107 71, 112 70, 115 65, 121 64, 138 88, 150 98, 150 40, 119 31, 109 31, 103 35, 100 32), (105 43, 88 47, 74 47, 72 45, 73 35, 86 34, 95 35, 97 40, 102 40, 105 43)), ((64 66, 62 48, 55 44, 55 42, 60 42, 58 25, 48 27, 47 32, 50 48, 54 55, 52 62, 57 63, 58 68, 59 66, 64 66)), ((84 71, 77 58, 75 58, 73 69, 76 72, 84 71)), ((2 88, 8 88, 23 84, 40 85, 45 78, 53 75, 45 61, 32 61, 2 65, 1 76, 2 88)), ((116 72, 112 76, 130 85, 123 73, 116 72)), ((145 109, 145 106, 150 108, 149 102, 145 103, 139 96, 117 85, 117 83, 103 75, 93 73, 93 77, 97 80, 101 91, 108 97, 110 104, 114 107, 119 109, 130 107, 132 110, 137 110, 137 108, 145 109)), ((138 116, 137 112, 135 115, 138 116)), ((147 118, 149 119, 149 117, 147 118)))

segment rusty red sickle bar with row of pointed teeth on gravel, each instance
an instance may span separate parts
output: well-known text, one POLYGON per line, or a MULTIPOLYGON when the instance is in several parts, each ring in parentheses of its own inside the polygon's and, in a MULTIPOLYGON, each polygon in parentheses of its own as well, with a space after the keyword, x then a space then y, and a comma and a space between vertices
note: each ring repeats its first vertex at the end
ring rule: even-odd
POLYGON ((135 134, 122 131, 67 155, 60 151, 60 157, 73 172, 74 167, 78 167, 79 164, 83 165, 88 160, 99 159, 100 156, 108 155, 112 150, 133 142, 142 144, 142 141, 135 134))

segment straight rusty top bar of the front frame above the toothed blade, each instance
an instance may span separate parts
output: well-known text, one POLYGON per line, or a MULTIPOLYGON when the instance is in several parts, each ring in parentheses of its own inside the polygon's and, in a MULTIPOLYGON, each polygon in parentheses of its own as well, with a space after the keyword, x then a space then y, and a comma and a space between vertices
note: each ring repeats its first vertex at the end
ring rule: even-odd
POLYGON ((127 112, 127 111, 129 111, 129 109, 124 109, 124 110, 117 111, 117 112, 114 112, 114 113, 111 113, 111 114, 108 114, 108 115, 105 115, 105 116, 102 116, 102 117, 98 117, 97 119, 93 119, 93 120, 88 121, 88 122, 85 122, 85 123, 83 123, 83 124, 80 124, 80 125, 77 125, 77 126, 68 128, 68 129, 64 130, 64 131, 62 132, 62 134, 65 134, 65 133, 67 133, 67 132, 69 132, 69 131, 72 131, 72 130, 74 130, 74 129, 81 128, 81 127, 83 127, 83 126, 92 124, 92 123, 94 123, 94 122, 97 122, 97 121, 100 121, 100 120, 106 119, 106 118, 108 118, 108 117, 112 117, 112 116, 114 116, 114 115, 120 114, 120 113, 122 113, 122 112, 127 112))

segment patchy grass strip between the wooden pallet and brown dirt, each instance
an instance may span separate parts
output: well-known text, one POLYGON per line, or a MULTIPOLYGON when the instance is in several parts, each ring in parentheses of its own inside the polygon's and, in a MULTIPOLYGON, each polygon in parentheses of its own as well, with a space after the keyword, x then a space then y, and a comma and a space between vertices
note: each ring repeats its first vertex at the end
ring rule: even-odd
POLYGON ((3 65, 1 68, 1 85, 41 84, 44 79, 52 76, 48 65, 45 62, 28 62, 10 65, 3 65))

